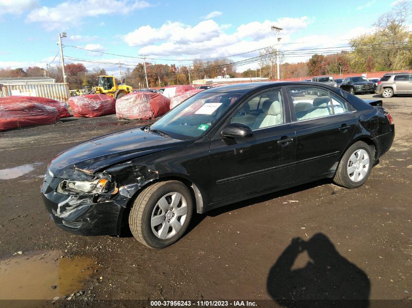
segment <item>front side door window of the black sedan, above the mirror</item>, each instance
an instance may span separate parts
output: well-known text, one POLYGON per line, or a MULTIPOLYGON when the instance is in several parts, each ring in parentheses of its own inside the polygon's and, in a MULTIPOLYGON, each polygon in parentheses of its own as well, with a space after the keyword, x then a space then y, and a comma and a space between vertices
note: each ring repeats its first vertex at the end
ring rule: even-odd
POLYGON ((230 123, 243 124, 255 130, 283 124, 283 114, 280 90, 269 91, 244 102, 230 123))

